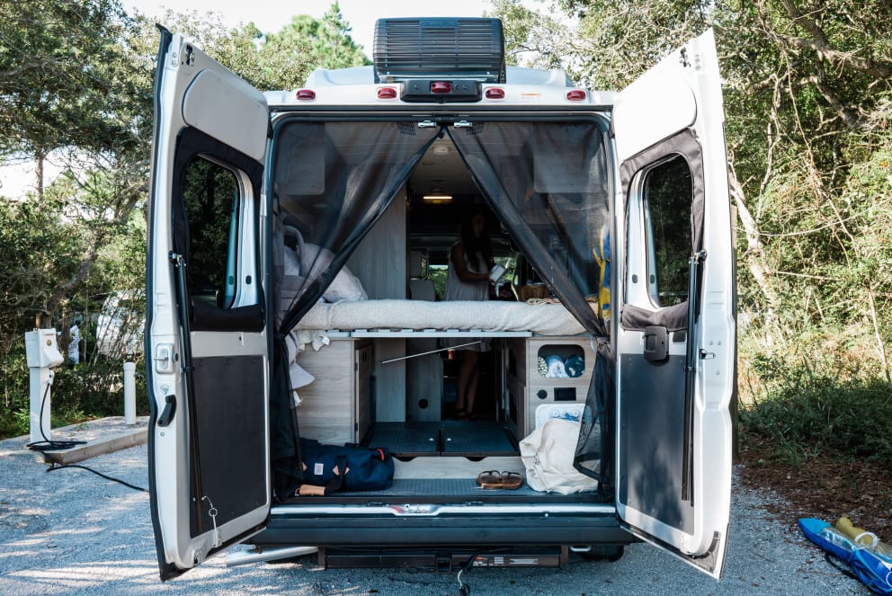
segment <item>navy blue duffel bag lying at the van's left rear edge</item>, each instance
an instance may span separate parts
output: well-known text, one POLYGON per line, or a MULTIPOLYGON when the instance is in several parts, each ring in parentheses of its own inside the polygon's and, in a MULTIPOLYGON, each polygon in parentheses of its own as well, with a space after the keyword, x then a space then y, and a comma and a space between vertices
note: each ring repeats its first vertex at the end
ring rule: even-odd
POLYGON ((304 483, 324 490, 299 489, 299 494, 380 491, 393 484, 394 462, 387 449, 349 443, 323 445, 315 439, 301 439, 300 455, 305 466, 304 483))

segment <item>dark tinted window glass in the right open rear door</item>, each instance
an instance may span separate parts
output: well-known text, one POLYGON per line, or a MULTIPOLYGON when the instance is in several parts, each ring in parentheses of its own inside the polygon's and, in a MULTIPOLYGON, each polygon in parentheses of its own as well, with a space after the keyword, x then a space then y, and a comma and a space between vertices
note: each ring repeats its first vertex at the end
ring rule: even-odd
POLYGON ((657 307, 671 307, 688 298, 692 197, 691 168, 682 156, 673 156, 647 172, 647 281, 657 307))

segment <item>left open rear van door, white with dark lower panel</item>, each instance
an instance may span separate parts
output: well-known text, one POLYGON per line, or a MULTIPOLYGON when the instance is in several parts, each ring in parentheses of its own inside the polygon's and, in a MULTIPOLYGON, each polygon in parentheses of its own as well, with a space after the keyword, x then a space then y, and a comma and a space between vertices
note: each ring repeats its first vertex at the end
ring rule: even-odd
POLYGON ((152 520, 163 580, 263 529, 270 322, 263 94, 161 32, 147 251, 152 520))

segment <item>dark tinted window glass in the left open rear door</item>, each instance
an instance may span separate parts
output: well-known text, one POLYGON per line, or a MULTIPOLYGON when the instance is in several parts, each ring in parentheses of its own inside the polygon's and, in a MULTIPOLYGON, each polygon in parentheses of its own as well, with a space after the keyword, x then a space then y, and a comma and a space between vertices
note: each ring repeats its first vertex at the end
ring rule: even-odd
POLYGON ((226 167, 196 156, 184 168, 190 294, 221 308, 236 299, 240 198, 236 174, 226 167))

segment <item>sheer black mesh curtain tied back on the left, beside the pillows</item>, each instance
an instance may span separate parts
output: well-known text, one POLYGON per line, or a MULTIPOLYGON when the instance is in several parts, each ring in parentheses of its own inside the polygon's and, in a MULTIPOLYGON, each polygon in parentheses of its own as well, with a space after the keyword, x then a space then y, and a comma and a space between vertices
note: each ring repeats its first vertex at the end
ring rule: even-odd
POLYGON ((283 123, 273 165, 272 304, 278 314, 271 398, 273 485, 302 481, 285 336, 387 210, 438 134, 415 122, 283 123))

